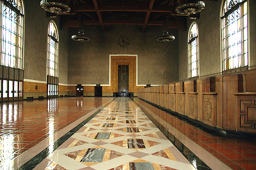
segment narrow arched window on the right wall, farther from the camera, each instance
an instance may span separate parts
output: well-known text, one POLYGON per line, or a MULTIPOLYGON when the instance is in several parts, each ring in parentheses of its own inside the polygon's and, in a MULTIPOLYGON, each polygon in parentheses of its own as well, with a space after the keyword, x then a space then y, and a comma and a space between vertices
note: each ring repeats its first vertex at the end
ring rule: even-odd
POLYGON ((193 22, 188 35, 188 70, 189 78, 199 75, 199 46, 198 46, 198 26, 193 22))

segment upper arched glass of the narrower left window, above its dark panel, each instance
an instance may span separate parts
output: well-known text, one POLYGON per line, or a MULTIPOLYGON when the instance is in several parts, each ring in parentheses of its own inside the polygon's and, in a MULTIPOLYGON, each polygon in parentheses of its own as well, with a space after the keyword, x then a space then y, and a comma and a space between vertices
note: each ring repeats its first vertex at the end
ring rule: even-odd
POLYGON ((48 27, 47 75, 58 77, 58 29, 53 21, 48 27))

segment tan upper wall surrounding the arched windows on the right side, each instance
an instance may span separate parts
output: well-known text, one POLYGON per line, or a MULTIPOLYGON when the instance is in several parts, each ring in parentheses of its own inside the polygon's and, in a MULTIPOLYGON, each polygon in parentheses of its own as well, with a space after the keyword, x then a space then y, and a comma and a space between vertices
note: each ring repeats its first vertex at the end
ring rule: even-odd
MULTIPOLYGON (((195 21, 199 32, 200 76, 221 72, 221 32, 220 10, 222 0, 204 1, 205 9, 200 19, 187 18, 187 31, 179 32, 179 80, 188 78, 188 46, 187 38, 190 24, 195 21)), ((248 0, 250 19, 250 66, 256 65, 256 1, 248 0)))

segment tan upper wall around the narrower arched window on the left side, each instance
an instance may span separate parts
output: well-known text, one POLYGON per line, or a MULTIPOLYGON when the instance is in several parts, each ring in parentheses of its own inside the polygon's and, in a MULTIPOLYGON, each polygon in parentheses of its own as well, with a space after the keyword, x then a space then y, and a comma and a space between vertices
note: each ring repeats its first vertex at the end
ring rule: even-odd
MULTIPOLYGON (((24 0, 24 6, 24 79, 46 82, 47 29, 51 20, 54 20, 59 28, 59 17, 47 18, 46 12, 35 0, 24 0)), ((58 34, 59 83, 67 84, 68 32, 58 29, 58 34)))

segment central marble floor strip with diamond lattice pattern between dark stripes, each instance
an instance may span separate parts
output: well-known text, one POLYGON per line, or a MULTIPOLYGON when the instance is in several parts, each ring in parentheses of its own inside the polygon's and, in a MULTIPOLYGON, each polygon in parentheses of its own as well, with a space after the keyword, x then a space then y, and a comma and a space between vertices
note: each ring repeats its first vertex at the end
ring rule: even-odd
POLYGON ((130 98, 116 98, 35 169, 195 170, 130 98))

